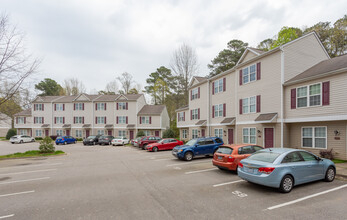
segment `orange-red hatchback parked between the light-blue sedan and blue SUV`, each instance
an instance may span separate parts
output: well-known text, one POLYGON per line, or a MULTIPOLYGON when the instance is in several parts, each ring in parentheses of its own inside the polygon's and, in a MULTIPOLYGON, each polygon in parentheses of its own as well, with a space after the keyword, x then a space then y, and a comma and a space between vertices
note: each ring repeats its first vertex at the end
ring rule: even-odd
POLYGON ((222 170, 237 171, 240 160, 261 149, 263 148, 252 144, 222 145, 214 153, 212 164, 222 170))

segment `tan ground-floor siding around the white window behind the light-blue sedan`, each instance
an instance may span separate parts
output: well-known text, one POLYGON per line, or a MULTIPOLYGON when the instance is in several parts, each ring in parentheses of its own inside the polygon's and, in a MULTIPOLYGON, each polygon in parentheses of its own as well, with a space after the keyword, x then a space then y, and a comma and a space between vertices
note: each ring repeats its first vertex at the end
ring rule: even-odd
POLYGON ((311 126, 326 126, 327 127, 327 149, 333 149, 335 152, 334 156, 337 159, 347 160, 346 154, 346 121, 336 121, 336 122, 313 122, 313 123, 293 123, 290 126, 290 143, 292 148, 300 148, 307 151, 311 151, 312 153, 319 156, 319 151, 322 149, 315 148, 302 148, 302 140, 301 140, 301 129, 302 127, 311 127, 311 126), (334 131, 337 130, 340 132, 337 138, 335 139, 334 131), (337 153, 338 152, 338 153, 337 153))

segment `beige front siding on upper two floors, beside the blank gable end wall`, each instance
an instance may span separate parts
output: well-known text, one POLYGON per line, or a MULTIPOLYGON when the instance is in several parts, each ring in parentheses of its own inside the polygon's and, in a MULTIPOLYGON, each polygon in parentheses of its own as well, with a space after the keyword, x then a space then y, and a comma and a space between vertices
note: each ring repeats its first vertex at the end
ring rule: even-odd
MULTIPOLYGON (((238 122, 254 121, 259 114, 263 113, 278 113, 278 118, 281 118, 281 54, 276 52, 266 56, 252 64, 261 62, 261 78, 247 84, 239 85, 239 69, 237 74, 237 111, 238 122), (239 100, 252 96, 261 96, 261 111, 260 113, 239 114, 239 100)), ((247 65, 247 66, 250 66, 247 65)), ((246 67, 246 66, 245 66, 246 67)))

